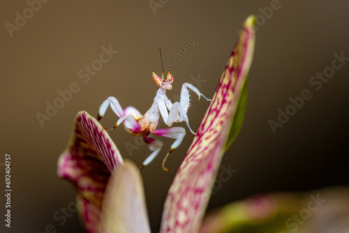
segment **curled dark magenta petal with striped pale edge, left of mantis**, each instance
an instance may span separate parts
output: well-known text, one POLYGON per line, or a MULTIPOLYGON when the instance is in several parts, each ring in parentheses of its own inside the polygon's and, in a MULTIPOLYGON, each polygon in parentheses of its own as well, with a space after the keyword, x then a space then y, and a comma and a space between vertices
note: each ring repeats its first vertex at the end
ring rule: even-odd
POLYGON ((103 126, 87 112, 79 112, 68 148, 59 157, 58 176, 77 188, 77 205, 88 232, 98 232, 107 181, 122 163, 103 126))

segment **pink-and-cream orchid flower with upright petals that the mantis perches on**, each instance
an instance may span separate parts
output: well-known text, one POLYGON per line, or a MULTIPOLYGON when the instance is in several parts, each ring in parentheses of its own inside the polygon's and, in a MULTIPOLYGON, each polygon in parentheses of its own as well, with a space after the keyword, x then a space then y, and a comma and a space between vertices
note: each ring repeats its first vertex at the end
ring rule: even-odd
MULTIPOLYGON (((198 232, 223 153, 242 126, 246 77, 253 57, 255 17, 244 22, 163 209, 161 233, 198 232)), ((79 112, 58 174, 77 188, 79 213, 87 232, 151 232, 140 172, 124 163, 117 146, 96 119, 79 112)))

